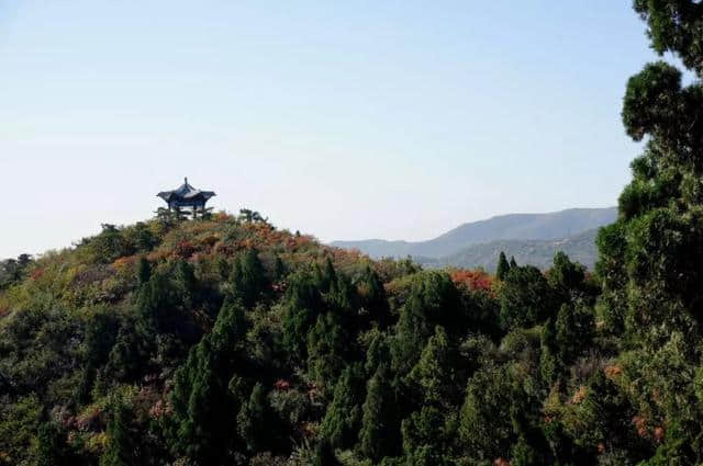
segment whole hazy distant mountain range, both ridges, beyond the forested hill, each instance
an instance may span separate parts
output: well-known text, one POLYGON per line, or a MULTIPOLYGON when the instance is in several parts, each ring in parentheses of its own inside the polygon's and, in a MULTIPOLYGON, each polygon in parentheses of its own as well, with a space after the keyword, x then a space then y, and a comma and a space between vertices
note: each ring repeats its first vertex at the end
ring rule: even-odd
POLYGON ((612 224, 617 208, 570 208, 547 214, 509 214, 460 225, 427 241, 334 241, 332 246, 358 249, 372 258, 412 257, 426 266, 482 266, 493 271, 500 251, 521 264, 547 268, 561 250, 592 268, 596 259, 598 228, 612 224))

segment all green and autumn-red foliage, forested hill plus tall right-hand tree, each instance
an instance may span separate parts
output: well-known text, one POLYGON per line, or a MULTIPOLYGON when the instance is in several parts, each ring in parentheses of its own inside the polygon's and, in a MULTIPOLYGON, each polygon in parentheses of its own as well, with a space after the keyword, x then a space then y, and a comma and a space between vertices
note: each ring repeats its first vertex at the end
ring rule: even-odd
POLYGON ((370 261, 257 213, 160 213, 0 263, 0 465, 703 462, 703 7, 636 0, 665 62, 598 237, 498 276, 370 261))

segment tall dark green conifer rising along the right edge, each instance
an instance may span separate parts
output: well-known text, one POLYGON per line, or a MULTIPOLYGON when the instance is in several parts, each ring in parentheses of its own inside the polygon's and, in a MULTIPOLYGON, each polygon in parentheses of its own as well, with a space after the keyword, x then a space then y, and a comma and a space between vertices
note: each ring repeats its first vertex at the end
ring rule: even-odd
POLYGON ((677 55, 691 76, 684 84, 680 69, 657 61, 627 82, 625 130, 646 143, 620 196, 616 224, 599 232, 599 309, 613 325, 609 331, 628 342, 622 370, 637 380, 628 390, 633 405, 652 423, 676 420, 681 429, 668 432, 666 444, 690 445, 676 462, 695 464, 703 435, 701 411, 691 409, 691 368, 700 365, 703 338, 703 7, 635 0, 634 8, 652 48, 677 55), (670 377, 676 388, 663 385, 670 377))

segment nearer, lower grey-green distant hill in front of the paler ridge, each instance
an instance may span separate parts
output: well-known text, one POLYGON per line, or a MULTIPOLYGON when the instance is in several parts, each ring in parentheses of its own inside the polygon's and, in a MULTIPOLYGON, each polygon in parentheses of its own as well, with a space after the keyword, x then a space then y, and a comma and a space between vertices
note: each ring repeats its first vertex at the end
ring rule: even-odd
POLYGON ((562 251, 571 260, 593 270, 598 259, 596 235, 598 230, 592 229, 563 239, 491 241, 469 246, 459 252, 438 259, 414 258, 414 260, 427 268, 482 268, 495 272, 499 255, 504 252, 509 258, 515 258, 517 263, 547 270, 551 266, 554 255, 562 251))

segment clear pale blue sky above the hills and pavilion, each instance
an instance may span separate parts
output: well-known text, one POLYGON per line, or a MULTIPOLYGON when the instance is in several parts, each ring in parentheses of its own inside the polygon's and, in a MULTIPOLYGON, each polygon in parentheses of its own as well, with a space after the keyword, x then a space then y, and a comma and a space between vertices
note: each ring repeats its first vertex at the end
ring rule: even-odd
POLYGON ((188 177, 333 239, 610 206, 656 58, 629 1, 0 1, 0 258, 188 177))

